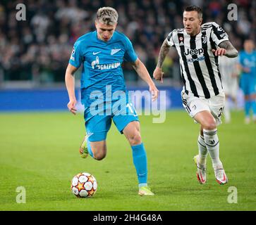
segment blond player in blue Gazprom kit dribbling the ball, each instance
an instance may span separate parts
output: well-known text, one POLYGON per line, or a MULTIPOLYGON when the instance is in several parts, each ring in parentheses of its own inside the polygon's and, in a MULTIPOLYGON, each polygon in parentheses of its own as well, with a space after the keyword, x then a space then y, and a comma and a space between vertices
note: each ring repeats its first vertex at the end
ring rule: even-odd
POLYGON ((106 156, 106 134, 113 120, 118 131, 126 136, 132 148, 133 164, 139 183, 138 194, 154 195, 147 186, 147 155, 140 136, 138 115, 128 99, 121 68, 123 60, 132 63, 138 75, 149 85, 153 101, 157 99, 158 90, 147 68, 136 55, 128 37, 115 31, 117 20, 118 13, 114 8, 99 8, 95 20, 96 30, 84 34, 75 41, 65 76, 69 97, 67 106, 71 113, 75 114, 76 98, 73 75, 83 64, 80 88, 81 102, 85 105, 84 117, 87 134, 80 146, 82 158, 90 154, 92 158, 102 160, 106 156), (124 101, 124 104, 121 104, 121 110, 116 106, 120 99, 117 100, 114 97, 111 99, 111 95, 114 95, 116 91, 126 93, 121 100, 124 101), (111 100, 109 100, 109 93, 111 100), (102 103, 99 103, 101 101, 102 103), (97 107, 95 103, 99 103, 96 104, 97 107))

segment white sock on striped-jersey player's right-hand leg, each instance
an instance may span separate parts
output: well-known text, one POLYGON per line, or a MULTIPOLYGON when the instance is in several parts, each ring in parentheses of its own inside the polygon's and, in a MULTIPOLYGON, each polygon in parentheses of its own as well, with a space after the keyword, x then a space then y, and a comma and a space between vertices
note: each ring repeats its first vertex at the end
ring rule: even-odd
POLYGON ((213 167, 222 165, 221 160, 219 160, 219 138, 217 136, 217 129, 207 130, 203 129, 205 145, 212 158, 213 167))

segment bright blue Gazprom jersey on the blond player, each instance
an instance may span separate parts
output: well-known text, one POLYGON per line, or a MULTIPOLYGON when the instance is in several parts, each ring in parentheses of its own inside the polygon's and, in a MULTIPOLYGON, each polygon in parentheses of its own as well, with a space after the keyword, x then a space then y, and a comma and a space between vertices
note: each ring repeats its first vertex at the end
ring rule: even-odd
POLYGON ((73 46, 69 63, 75 68, 83 64, 81 75, 81 101, 90 106, 92 91, 101 91, 105 96, 106 87, 114 91, 126 91, 121 65, 123 60, 135 62, 133 45, 126 35, 115 31, 109 41, 97 38, 97 31, 81 36, 73 46))

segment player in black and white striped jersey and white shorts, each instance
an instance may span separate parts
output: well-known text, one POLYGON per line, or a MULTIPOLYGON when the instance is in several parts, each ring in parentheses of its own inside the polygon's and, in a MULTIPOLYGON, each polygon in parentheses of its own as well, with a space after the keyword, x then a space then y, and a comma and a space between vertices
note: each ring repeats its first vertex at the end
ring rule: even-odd
POLYGON ((219 139, 217 125, 221 123, 225 95, 221 84, 218 56, 234 58, 238 51, 228 41, 228 35, 217 23, 202 24, 202 10, 188 6, 183 11, 182 29, 175 29, 164 40, 159 52, 154 78, 163 82, 161 66, 171 46, 178 51, 180 58, 183 91, 183 106, 200 124, 198 136, 199 154, 194 160, 197 166, 197 179, 206 182, 206 158, 212 158, 214 174, 219 184, 226 184, 228 178, 219 159, 219 139))

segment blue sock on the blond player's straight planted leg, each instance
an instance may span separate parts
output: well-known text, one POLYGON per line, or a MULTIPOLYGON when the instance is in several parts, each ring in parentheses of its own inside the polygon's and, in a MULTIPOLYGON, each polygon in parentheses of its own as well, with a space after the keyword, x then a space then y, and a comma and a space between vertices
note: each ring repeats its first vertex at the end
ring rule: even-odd
POLYGON ((131 146, 133 149, 133 164, 138 176, 139 187, 147 186, 147 155, 143 143, 131 146))

